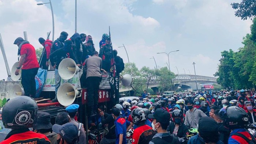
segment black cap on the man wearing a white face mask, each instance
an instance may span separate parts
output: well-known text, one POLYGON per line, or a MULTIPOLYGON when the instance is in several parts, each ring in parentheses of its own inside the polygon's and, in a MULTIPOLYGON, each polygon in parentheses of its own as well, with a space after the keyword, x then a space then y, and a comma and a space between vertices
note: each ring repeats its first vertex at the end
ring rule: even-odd
POLYGON ((157 109, 154 114, 148 114, 148 118, 156 119, 158 122, 169 122, 171 116, 166 110, 157 109))

